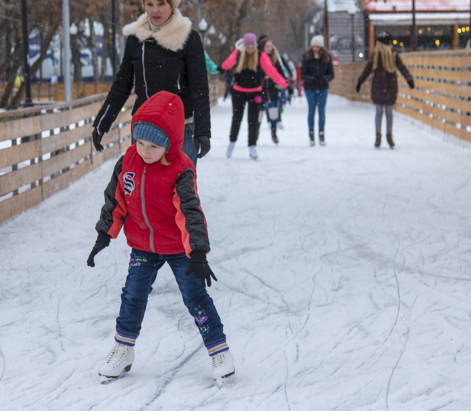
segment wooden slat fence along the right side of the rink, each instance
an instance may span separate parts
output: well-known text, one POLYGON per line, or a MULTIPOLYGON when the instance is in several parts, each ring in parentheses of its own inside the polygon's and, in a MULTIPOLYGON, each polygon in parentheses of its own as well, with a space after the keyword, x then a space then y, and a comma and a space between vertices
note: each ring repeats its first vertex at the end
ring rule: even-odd
MULTIPOLYGON (((394 109, 435 129, 471 142, 471 51, 416 51, 401 53, 414 77, 410 89, 398 73, 394 109)), ((335 66, 330 92, 349 100, 371 102, 371 74, 359 93, 355 86, 365 62, 335 66)))

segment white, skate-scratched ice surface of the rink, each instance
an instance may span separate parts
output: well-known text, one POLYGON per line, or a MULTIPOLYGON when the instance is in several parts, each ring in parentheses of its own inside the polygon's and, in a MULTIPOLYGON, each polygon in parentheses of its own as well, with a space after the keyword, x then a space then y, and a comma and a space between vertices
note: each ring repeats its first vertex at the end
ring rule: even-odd
POLYGON ((394 113, 330 95, 327 146, 303 99, 280 144, 247 123, 228 160, 230 101, 198 161, 209 289, 236 375, 215 384, 171 271, 159 272, 132 370, 99 385, 129 260, 124 236, 86 265, 116 159, 0 224, 3 411, 469 411, 471 150, 394 113))

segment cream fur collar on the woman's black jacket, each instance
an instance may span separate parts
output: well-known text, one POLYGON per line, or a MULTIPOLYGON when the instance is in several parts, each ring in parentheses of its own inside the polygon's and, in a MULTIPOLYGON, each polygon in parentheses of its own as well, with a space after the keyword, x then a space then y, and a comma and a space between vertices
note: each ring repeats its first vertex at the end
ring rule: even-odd
POLYGON ((162 47, 171 51, 177 51, 185 46, 190 35, 191 21, 184 17, 178 9, 173 11, 173 17, 168 24, 153 32, 149 26, 147 14, 142 14, 135 22, 125 25, 123 34, 125 36, 135 35, 141 42, 153 38, 162 47))

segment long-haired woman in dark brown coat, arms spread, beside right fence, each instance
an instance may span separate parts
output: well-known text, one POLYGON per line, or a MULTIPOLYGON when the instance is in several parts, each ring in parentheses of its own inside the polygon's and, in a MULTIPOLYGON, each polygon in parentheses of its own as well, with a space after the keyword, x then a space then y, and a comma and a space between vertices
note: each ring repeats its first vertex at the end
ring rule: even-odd
POLYGON ((397 74, 396 68, 405 77, 410 88, 414 88, 414 81, 409 70, 402 62, 391 45, 391 35, 383 32, 376 38, 376 47, 368 61, 365 69, 358 77, 356 91, 360 91, 361 83, 374 71, 373 81, 371 82, 371 100, 376 107, 375 128, 376 141, 374 146, 379 148, 381 145, 381 120, 383 111, 386 112, 386 139, 389 147, 394 147, 392 139, 392 108, 397 97, 397 74))

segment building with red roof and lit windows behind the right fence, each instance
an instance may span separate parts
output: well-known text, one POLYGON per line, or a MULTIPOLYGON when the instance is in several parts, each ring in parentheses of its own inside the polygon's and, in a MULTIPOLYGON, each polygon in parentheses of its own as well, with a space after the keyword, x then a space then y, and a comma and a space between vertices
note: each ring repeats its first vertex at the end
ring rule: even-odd
POLYGON ((469 0, 325 0, 324 13, 329 51, 341 62, 367 58, 383 31, 399 51, 470 47, 469 0))

